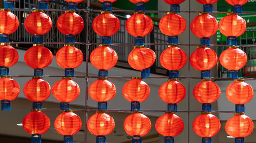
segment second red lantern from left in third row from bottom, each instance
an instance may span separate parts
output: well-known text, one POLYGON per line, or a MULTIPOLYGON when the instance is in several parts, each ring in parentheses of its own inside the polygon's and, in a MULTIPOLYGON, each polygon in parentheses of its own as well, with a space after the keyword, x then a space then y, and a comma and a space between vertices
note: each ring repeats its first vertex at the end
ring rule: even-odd
POLYGON ((33 46, 25 55, 25 63, 33 69, 43 69, 52 63, 52 52, 44 46, 33 46))

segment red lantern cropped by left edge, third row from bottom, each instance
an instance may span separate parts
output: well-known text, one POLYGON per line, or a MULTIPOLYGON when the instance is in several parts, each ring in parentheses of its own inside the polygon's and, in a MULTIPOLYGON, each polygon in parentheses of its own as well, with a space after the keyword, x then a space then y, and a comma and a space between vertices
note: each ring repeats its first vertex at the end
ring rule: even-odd
MULTIPOLYGON (((0 25, 1 26, 1 25, 0 25)), ((10 45, 0 45, 0 66, 11 67, 18 62, 18 52, 10 45)))

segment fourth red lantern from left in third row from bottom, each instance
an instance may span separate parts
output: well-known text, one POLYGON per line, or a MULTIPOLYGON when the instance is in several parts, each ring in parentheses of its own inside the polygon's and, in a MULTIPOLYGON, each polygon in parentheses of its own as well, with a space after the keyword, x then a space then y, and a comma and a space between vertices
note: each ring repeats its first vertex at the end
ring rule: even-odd
POLYGON ((118 60, 115 50, 109 46, 100 45, 94 49, 90 55, 90 62, 99 70, 109 70, 113 68, 118 60))

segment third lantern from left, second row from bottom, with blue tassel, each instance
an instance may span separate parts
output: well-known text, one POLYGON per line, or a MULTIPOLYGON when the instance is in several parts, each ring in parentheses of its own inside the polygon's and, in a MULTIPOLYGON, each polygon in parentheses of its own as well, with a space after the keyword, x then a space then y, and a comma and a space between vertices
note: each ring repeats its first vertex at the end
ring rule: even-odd
POLYGON ((79 85, 71 77, 62 77, 53 84, 52 94, 60 101, 60 109, 69 109, 69 102, 74 101, 80 94, 79 85))

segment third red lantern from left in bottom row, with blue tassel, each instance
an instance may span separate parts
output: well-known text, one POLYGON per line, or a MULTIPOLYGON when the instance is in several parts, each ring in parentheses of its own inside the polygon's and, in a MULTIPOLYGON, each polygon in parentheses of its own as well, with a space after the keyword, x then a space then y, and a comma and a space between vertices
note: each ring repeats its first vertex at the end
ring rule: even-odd
POLYGON ((87 123, 88 130, 97 135, 96 142, 106 142, 106 135, 110 134, 115 128, 114 119, 104 111, 97 111, 90 117, 87 123))

